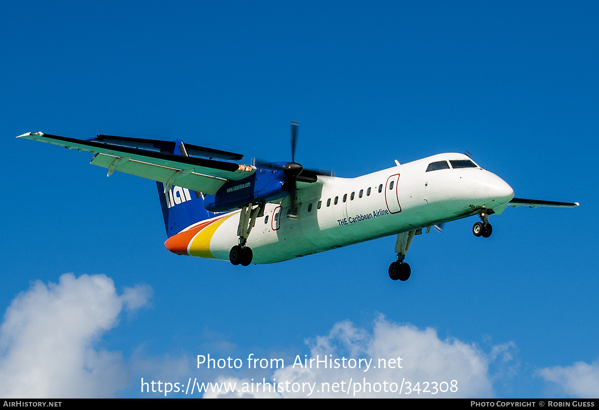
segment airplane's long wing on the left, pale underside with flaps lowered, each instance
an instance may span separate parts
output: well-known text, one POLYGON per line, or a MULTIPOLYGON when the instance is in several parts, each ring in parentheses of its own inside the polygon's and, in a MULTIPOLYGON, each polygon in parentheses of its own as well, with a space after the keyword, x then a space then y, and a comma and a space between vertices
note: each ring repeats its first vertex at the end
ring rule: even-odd
POLYGON ((241 160, 243 155, 219 151, 183 142, 98 135, 80 140, 44 133, 26 133, 17 138, 32 139, 91 152, 91 163, 114 171, 125 172, 214 195, 228 180, 247 178, 256 168, 222 160, 241 160), (171 154, 178 147, 181 155, 171 154), (201 158, 204 157, 204 158, 201 158), (213 158, 219 158, 215 160, 213 158))

